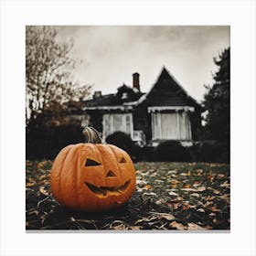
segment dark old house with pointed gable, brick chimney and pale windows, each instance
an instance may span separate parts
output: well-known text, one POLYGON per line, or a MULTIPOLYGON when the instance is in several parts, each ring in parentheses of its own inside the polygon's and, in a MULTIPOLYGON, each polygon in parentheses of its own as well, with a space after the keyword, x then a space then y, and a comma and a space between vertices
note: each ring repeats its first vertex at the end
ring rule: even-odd
POLYGON ((82 111, 90 115, 90 125, 101 131, 103 141, 121 131, 141 145, 191 143, 201 125, 201 106, 165 68, 147 93, 140 90, 139 74, 134 73, 133 87, 123 84, 108 95, 95 91, 83 104, 82 111))

